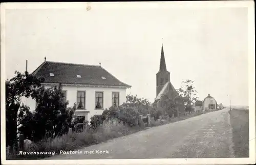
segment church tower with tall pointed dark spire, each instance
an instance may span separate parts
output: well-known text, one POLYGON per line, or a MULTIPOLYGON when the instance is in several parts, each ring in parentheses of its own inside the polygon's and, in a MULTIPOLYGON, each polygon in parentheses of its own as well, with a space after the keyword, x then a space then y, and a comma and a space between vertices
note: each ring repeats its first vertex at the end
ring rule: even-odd
POLYGON ((164 59, 164 52, 163 52, 163 44, 161 50, 161 59, 160 59, 160 68, 157 72, 157 95, 163 88, 163 86, 170 80, 170 72, 166 69, 165 59, 164 59))

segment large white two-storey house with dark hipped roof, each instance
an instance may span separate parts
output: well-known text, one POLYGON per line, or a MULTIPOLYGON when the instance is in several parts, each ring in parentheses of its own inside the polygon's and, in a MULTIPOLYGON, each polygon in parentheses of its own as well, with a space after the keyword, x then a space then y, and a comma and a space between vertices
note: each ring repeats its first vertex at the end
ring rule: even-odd
MULTIPOLYGON (((44 77, 46 88, 62 84, 68 106, 77 105, 75 115, 90 121, 91 116, 101 115, 105 108, 121 105, 126 101, 124 84, 100 65, 82 65, 45 61, 32 74, 44 77)), ((24 103, 33 111, 36 101, 26 98, 24 103)))

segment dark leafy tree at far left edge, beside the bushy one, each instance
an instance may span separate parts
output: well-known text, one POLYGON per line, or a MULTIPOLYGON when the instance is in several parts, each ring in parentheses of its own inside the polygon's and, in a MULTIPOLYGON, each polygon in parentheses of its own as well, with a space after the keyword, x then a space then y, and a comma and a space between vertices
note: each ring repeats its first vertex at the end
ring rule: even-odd
POLYGON ((17 146, 17 126, 29 112, 29 107, 22 103, 22 97, 30 97, 43 81, 44 78, 37 78, 27 71, 24 74, 15 71, 15 76, 6 80, 6 146, 11 146, 10 152, 13 145, 17 146))

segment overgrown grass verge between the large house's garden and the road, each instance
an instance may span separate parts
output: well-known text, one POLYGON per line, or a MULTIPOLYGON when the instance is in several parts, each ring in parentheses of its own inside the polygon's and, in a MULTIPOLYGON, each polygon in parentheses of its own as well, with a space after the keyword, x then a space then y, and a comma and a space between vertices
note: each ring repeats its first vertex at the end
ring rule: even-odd
POLYGON ((118 122, 118 120, 104 121, 102 127, 96 130, 86 128, 82 132, 74 132, 71 136, 65 134, 55 137, 54 139, 44 139, 41 142, 27 145, 23 150, 23 154, 20 154, 20 151, 17 151, 16 153, 9 153, 8 150, 6 150, 6 159, 42 159, 53 156, 53 154, 57 155, 59 154, 60 150, 74 151, 75 149, 106 142, 115 137, 135 133, 140 130, 143 130, 143 128, 139 126, 129 127, 118 122), (24 151, 26 152, 26 155, 24 155, 24 151))

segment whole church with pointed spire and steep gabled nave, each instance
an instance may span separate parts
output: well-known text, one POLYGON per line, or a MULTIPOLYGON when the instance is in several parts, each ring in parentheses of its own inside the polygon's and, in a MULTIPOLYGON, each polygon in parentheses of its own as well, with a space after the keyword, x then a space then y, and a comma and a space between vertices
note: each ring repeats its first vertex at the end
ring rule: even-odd
POLYGON ((170 82, 170 72, 166 69, 163 44, 161 48, 160 68, 156 74, 156 98, 153 103, 154 107, 163 108, 163 99, 171 100, 175 103, 174 116, 177 117, 179 114, 185 112, 185 106, 182 98, 177 93, 176 89, 170 82), (164 98, 165 97, 165 98, 164 98))

